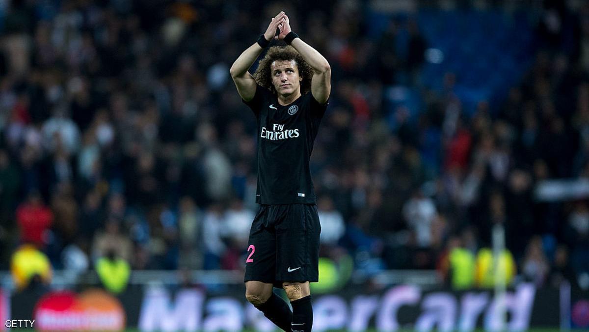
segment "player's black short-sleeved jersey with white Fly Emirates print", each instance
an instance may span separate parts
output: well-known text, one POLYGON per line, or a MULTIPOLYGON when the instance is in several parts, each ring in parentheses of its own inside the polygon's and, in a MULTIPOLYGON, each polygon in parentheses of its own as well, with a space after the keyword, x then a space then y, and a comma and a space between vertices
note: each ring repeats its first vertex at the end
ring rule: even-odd
POLYGON ((309 158, 327 103, 307 93, 282 106, 261 86, 243 102, 257 118, 256 203, 316 203, 309 158))

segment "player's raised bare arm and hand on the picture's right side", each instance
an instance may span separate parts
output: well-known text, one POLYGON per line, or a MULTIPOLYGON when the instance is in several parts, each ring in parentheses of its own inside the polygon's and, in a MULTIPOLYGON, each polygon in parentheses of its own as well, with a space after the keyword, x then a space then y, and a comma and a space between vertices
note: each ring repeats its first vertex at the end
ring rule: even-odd
POLYGON ((311 80, 311 93, 313 98, 320 104, 325 104, 331 93, 331 67, 327 59, 317 52, 306 42, 302 41, 298 35, 292 33, 290 29, 289 17, 284 15, 284 23, 280 26, 280 34, 276 39, 284 40, 305 59, 307 64, 313 68, 313 78, 311 80), (290 35, 289 35, 290 34, 290 35), (294 39, 292 39, 294 37, 294 39))

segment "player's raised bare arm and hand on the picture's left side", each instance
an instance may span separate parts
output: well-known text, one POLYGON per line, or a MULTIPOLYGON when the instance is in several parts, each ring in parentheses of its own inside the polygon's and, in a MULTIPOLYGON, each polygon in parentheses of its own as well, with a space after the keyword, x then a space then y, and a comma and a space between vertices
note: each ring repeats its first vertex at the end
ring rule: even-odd
MULTIPOLYGON (((264 32, 264 38, 267 42, 271 41, 272 37, 276 34, 276 28, 282 27, 285 16, 284 12, 280 12, 270 20, 270 24, 266 32, 264 32)), ((248 47, 239 55, 229 70, 239 96, 245 101, 252 100, 254 94, 256 94, 256 80, 247 70, 252 67, 254 61, 262 53, 262 50, 264 48, 260 46, 259 42, 254 42, 252 46, 248 47)))

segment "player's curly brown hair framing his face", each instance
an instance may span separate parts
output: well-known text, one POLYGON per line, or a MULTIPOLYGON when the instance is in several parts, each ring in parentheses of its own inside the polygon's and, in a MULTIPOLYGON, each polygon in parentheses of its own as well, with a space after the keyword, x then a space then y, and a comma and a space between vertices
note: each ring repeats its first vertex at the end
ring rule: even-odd
POLYGON ((254 73, 254 78, 256 78, 257 84, 276 94, 276 89, 274 88, 274 84, 272 84, 272 73, 270 71, 270 65, 276 60, 294 60, 294 62, 297 64, 297 67, 299 68, 299 76, 303 78, 303 80, 300 82, 300 94, 306 94, 311 91, 313 68, 311 68, 311 66, 307 64, 305 60, 303 60, 303 57, 299 54, 299 52, 294 50, 294 47, 292 46, 273 46, 269 48, 269 50, 266 52, 266 56, 260 60, 256 72, 254 73))

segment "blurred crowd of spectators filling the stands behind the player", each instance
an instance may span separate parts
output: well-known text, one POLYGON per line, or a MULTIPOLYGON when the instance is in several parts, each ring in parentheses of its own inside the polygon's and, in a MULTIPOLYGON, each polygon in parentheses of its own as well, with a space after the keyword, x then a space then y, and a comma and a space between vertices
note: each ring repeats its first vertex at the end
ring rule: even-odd
POLYGON ((520 83, 469 114, 460 73, 423 85, 418 22, 368 34, 364 1, 1 2, 0 269, 25 243, 78 272, 101 257, 243 268, 256 121, 229 67, 284 10, 333 71, 311 163, 324 257, 450 275, 455 248, 478 261, 502 225, 518 278, 589 287, 589 201, 534 196, 542 180, 589 177, 589 6, 555 3, 535 8, 520 83), (560 44, 565 18, 573 47, 560 44), (399 73, 421 93, 417 117, 387 106, 399 73))

